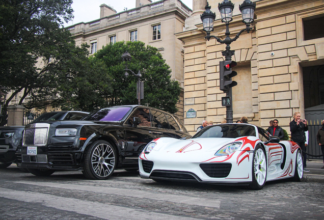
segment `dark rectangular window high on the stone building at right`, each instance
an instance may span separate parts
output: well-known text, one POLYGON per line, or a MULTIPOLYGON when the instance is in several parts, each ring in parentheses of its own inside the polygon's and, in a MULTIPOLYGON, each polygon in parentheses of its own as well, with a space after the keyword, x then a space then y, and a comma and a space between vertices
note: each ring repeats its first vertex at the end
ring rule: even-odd
POLYGON ((324 29, 320 28, 324 23, 324 14, 303 18, 304 40, 312 40, 324 37, 324 29))

